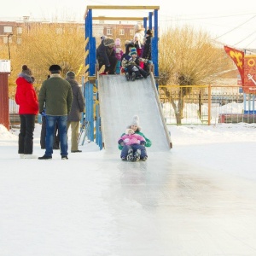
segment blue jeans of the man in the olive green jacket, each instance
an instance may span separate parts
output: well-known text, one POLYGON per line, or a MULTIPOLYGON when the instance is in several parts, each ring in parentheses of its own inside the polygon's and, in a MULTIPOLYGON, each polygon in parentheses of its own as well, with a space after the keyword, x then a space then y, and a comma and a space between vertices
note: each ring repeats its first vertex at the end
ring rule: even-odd
POLYGON ((67 115, 46 116, 46 138, 45 138, 45 155, 53 154, 53 143, 55 137, 55 125, 58 125, 61 143, 61 156, 67 156, 67 115))

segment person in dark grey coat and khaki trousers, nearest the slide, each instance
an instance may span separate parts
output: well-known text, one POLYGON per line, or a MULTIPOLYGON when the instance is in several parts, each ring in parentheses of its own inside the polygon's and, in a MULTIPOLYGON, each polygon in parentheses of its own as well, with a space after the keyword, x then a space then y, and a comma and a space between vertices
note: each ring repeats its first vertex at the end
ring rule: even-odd
POLYGON ((73 103, 70 113, 67 115, 67 131, 71 126, 71 152, 79 153, 79 125, 81 119, 81 113, 84 112, 84 96, 79 83, 75 80, 75 73, 72 71, 67 72, 66 80, 71 85, 73 92, 73 103))

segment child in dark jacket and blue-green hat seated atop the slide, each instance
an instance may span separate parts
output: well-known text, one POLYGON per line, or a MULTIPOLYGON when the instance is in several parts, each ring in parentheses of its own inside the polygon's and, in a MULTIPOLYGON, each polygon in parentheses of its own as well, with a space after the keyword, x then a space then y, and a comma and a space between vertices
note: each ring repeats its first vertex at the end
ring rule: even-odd
POLYGON ((129 55, 126 55, 123 59, 122 67, 125 67, 125 77, 128 81, 130 78, 132 81, 140 78, 148 78, 149 73, 140 67, 140 60, 137 57, 137 49, 135 47, 131 48, 129 55))

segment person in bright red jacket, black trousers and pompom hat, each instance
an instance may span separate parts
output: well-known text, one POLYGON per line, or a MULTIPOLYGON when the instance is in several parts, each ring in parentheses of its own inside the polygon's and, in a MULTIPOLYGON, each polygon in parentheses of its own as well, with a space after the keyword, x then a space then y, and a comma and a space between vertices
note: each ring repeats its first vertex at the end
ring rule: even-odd
POLYGON ((31 70, 22 66, 22 72, 16 79, 15 102, 19 105, 20 114, 20 134, 19 150, 20 158, 37 158, 33 155, 33 132, 35 129, 35 119, 38 114, 38 96, 33 88, 34 79, 31 70))

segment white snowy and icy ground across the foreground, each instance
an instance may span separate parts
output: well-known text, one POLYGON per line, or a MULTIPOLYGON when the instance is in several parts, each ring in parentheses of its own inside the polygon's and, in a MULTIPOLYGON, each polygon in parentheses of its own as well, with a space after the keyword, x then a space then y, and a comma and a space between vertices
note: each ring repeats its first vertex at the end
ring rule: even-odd
POLYGON ((0 125, 0 255, 255 255, 256 125, 168 129, 170 152, 128 163, 95 143, 21 160, 0 125))

